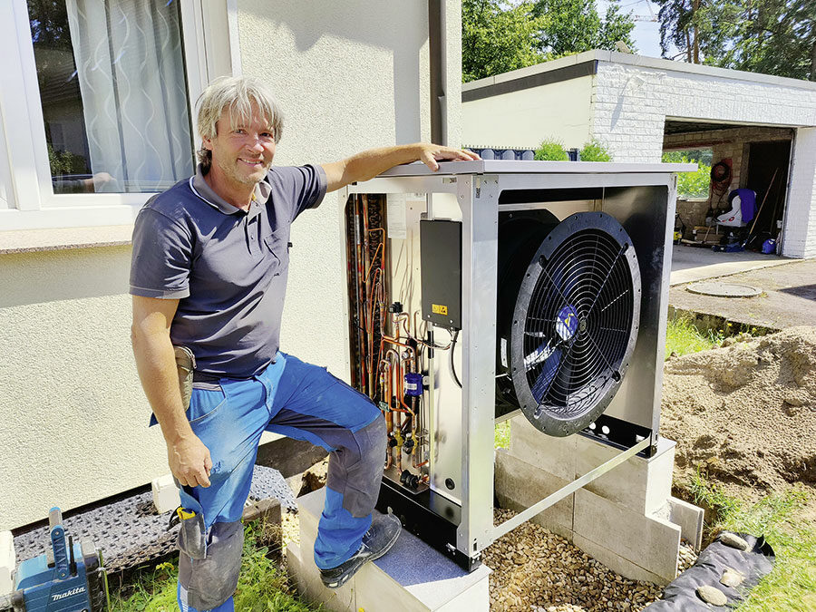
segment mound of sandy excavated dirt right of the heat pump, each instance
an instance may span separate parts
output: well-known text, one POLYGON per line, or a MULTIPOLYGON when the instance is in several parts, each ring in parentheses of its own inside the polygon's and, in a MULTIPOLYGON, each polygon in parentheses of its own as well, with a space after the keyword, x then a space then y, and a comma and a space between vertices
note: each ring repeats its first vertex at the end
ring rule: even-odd
POLYGON ((816 485, 816 327, 741 340, 666 362, 660 432, 676 469, 751 500, 816 485))

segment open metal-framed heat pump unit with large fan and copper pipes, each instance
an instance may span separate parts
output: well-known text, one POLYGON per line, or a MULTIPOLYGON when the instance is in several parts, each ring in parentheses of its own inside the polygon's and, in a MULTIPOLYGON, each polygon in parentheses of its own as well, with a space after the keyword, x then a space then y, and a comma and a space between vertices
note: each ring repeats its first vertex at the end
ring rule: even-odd
POLYGON ((352 383, 383 411, 378 507, 465 568, 656 448, 680 164, 401 166, 347 188, 352 383), (495 424, 617 456, 493 526, 495 424))

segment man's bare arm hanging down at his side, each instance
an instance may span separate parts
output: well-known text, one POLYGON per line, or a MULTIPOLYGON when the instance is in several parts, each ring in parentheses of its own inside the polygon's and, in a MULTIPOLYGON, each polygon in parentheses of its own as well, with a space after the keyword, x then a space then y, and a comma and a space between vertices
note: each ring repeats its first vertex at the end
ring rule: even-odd
POLYGON ((141 386, 167 442, 170 471, 180 484, 209 487, 209 450, 192 432, 181 405, 170 323, 177 299, 133 296, 131 341, 141 386))

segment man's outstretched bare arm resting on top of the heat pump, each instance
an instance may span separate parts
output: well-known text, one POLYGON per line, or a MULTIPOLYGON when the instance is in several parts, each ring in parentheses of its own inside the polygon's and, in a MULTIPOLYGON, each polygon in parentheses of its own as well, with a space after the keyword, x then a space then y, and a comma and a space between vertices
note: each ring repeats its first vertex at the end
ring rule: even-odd
POLYGON ((420 160, 435 172, 439 170, 437 160, 472 161, 478 159, 479 156, 471 151, 418 142, 363 151, 346 160, 325 163, 323 170, 325 170, 326 191, 335 191, 358 180, 373 179, 381 172, 403 163, 420 160))

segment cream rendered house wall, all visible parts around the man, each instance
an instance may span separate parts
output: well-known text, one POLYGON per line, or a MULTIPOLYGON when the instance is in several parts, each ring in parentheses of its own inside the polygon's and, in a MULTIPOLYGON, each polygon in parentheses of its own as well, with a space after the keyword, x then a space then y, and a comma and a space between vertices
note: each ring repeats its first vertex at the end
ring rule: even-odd
MULTIPOLYGON (((460 96, 461 5, 443 4, 446 127, 458 144, 450 101, 460 96)), ((240 69, 272 83, 287 112, 277 163, 430 138, 427 3, 224 5, 240 69)), ((330 194, 293 227, 282 348, 346 376, 341 205, 330 194)), ((147 428, 150 407, 131 356, 131 227, 3 229, 0 221, 0 529, 12 529, 53 505, 69 510, 168 468, 160 431, 147 428)))

